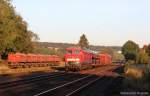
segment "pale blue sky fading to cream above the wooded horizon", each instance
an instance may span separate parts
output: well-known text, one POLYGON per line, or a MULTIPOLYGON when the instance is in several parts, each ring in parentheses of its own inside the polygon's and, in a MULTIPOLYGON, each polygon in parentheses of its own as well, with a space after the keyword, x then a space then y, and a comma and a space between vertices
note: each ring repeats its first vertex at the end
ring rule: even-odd
POLYGON ((150 43, 150 0, 13 0, 18 14, 42 42, 91 45, 150 43))

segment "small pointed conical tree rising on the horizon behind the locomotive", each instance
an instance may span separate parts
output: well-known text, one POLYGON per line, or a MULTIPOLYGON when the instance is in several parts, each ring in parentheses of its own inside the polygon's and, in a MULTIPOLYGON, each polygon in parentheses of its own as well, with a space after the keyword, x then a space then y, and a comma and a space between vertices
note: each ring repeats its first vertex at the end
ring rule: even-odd
POLYGON ((86 38, 85 34, 83 34, 81 37, 80 37, 80 40, 79 40, 79 43, 78 45, 81 47, 81 48, 89 48, 89 42, 88 42, 88 39, 86 38))

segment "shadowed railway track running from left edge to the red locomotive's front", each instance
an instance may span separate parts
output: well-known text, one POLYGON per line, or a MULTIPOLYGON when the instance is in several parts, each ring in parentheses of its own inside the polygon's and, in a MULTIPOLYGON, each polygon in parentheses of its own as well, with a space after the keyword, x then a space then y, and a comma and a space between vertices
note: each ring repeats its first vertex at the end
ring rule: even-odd
POLYGON ((57 72, 53 74, 40 75, 40 76, 31 77, 31 78, 0 83, 0 91, 4 89, 12 88, 12 87, 22 86, 23 84, 30 84, 30 83, 41 81, 41 80, 48 79, 48 78, 55 78, 55 77, 62 76, 62 75, 65 75, 65 73, 57 72))

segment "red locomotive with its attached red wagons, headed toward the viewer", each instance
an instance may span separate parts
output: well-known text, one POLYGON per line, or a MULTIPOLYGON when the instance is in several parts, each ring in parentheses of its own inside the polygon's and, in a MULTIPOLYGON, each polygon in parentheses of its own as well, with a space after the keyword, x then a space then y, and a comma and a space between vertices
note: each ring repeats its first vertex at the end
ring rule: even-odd
POLYGON ((67 48, 65 54, 66 70, 82 70, 111 64, 109 54, 97 54, 89 49, 67 48))

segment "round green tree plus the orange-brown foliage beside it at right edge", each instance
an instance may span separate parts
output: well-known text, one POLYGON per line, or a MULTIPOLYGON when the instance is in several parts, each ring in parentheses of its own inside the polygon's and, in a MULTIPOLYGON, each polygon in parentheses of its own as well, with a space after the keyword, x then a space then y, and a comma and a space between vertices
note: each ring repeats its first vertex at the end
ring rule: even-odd
POLYGON ((127 41, 122 47, 122 53, 126 61, 133 61, 137 64, 150 64, 150 44, 147 47, 139 48, 133 41, 127 41))

